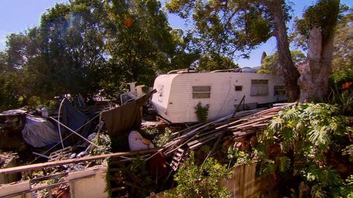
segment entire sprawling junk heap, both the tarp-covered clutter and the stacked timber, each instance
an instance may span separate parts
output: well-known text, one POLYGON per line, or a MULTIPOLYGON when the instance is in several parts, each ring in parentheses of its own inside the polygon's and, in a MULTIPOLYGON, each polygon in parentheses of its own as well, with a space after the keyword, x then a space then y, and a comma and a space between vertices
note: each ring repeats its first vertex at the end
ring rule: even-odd
MULTIPOLYGON (((106 177, 112 197, 143 197, 149 192, 172 187, 171 175, 189 157, 190 151, 208 145, 210 149, 203 156, 208 158, 229 147, 249 150, 256 144, 256 133, 263 131, 278 111, 293 105, 275 104, 271 109, 240 111, 185 128, 162 118, 142 122, 143 106, 156 91, 143 94, 141 89, 142 86, 135 87, 132 83, 132 91, 121 95, 120 106, 103 105, 92 109, 82 105, 83 99, 78 98, 71 102, 63 99, 58 113, 52 115, 47 109, 42 109, 41 116, 23 110, 1 113, 0 141, 11 141, 17 136, 13 139, 17 141, 16 147, 25 144, 30 147, 30 154, 36 156, 31 163, 39 159, 47 162, 11 170, 5 168, 0 170, 0 175, 23 172, 22 179, 30 183, 30 190, 23 192, 41 194, 42 190, 49 189, 44 197, 51 197, 75 192, 68 187, 73 171, 109 166, 106 177), (79 104, 85 110, 79 111, 72 104, 79 104), (141 127, 173 128, 172 140, 164 147, 155 148, 141 132, 141 127), (179 128, 184 129, 176 130, 179 128), (6 135, 8 138, 4 139, 6 135), (110 150, 111 143, 126 149, 110 150), (55 180, 57 185, 48 180, 55 180)), ((0 145, 0 149, 13 148, 11 144, 0 145)))

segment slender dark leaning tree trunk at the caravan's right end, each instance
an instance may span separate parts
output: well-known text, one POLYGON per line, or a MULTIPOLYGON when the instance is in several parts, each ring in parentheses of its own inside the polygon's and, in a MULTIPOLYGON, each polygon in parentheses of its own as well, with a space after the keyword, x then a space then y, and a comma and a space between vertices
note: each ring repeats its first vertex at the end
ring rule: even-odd
POLYGON ((285 13, 282 8, 282 3, 282 0, 268 1, 267 6, 276 24, 278 61, 285 77, 288 99, 289 101, 295 101, 299 99, 300 94, 298 86, 300 74, 294 66, 292 55, 290 54, 285 13))

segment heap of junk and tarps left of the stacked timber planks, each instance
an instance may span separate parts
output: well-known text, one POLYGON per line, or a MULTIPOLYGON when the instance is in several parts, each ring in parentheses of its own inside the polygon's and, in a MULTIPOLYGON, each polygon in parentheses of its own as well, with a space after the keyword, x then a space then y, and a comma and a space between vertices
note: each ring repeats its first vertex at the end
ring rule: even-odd
MULTIPOLYGON (((150 153, 155 153, 157 149, 152 149, 154 145, 136 131, 142 123, 143 105, 153 93, 155 91, 148 94, 141 94, 140 91, 131 94, 132 99, 124 101, 121 106, 104 105, 95 109, 81 106, 84 108, 80 109, 85 111, 79 111, 73 106, 73 104, 76 106, 82 104, 81 100, 68 101, 64 98, 57 113, 50 113, 45 108, 40 113, 25 110, 2 113, 0 126, 7 133, 0 135, 2 137, 8 135, 8 140, 14 134, 18 135, 18 143, 25 144, 25 155, 30 161, 25 161, 25 163, 29 162, 26 166, 18 166, 10 170, 4 168, 0 171, 0 175, 22 173, 22 180, 29 181, 29 187, 18 194, 30 192, 40 197, 52 197, 63 192, 67 194, 70 191, 67 177, 71 173, 97 166, 107 168, 105 159, 110 158, 112 162, 108 173, 111 175, 109 178, 112 178, 110 180, 112 192, 119 192, 118 194, 123 196, 128 192, 136 193, 139 189, 144 189, 147 185, 141 177, 148 177, 148 172, 144 168, 150 166, 151 173, 157 175, 153 173, 155 167, 165 163, 163 158, 162 162, 155 162, 160 155, 150 153), (110 142, 119 139, 128 142, 131 151, 112 154, 110 142), (34 160, 32 160, 33 156, 35 156, 34 160), (140 161, 138 166, 136 166, 136 159, 140 161), (47 162, 35 163, 38 161, 47 162), (124 175, 121 175, 122 173, 124 175), (52 184, 52 180, 57 185, 52 184), (43 190, 45 192, 42 192, 43 190)), ((0 140, 4 140, 2 137, 0 140)), ((1 149, 16 149, 16 147, 4 148, 3 145, 0 145, 1 149)), ((160 168, 160 171, 162 169, 160 168)), ((152 182, 147 184, 151 187, 153 185, 152 182)), ((7 187, 0 185, 0 189, 3 188, 7 187)))

